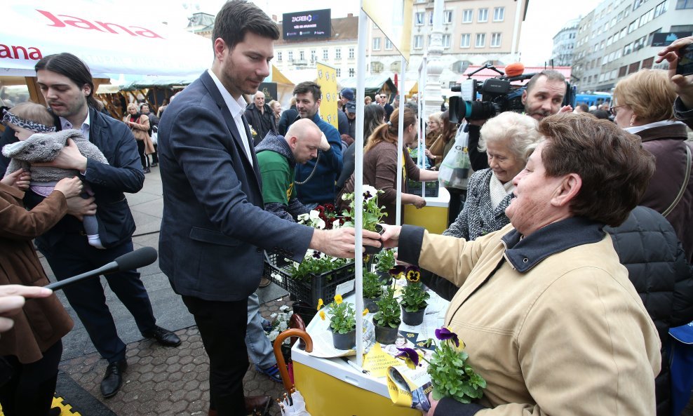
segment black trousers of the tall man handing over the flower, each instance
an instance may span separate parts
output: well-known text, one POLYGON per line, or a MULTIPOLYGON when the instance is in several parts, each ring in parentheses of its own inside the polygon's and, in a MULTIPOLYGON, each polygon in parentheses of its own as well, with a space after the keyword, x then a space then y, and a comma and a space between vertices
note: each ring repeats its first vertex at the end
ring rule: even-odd
POLYGON ((209 356, 210 409, 219 416, 245 415, 243 376, 248 371, 245 328, 248 300, 214 302, 183 296, 209 356))

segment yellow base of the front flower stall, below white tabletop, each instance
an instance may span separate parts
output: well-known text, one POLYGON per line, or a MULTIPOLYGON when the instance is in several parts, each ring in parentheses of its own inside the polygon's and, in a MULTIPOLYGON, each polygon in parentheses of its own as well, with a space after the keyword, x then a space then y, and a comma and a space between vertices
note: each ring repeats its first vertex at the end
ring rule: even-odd
POLYGON ((421 416, 419 410, 392 404, 388 397, 338 380, 293 362, 296 389, 306 399, 311 416, 421 416))

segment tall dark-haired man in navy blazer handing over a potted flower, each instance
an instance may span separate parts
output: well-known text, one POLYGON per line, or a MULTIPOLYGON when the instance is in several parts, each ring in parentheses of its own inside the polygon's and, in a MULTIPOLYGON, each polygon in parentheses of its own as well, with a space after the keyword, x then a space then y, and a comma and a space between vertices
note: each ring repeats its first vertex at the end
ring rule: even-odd
MULTIPOLYGON (((269 75, 278 37, 254 4, 224 4, 212 68, 176 96, 159 123, 159 264, 194 315, 210 357, 210 415, 247 415, 269 402, 243 395, 248 295, 260 283, 263 250, 297 262, 308 248, 354 257, 354 229, 315 230, 263 210, 242 95, 254 94, 269 75)), ((377 234, 364 237, 365 245, 380 245, 377 234)))

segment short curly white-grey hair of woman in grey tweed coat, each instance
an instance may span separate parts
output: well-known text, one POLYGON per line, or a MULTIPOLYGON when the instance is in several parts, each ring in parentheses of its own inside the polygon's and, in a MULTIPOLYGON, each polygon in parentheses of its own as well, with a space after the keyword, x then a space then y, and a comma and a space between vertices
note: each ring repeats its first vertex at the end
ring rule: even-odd
POLYGON ((484 123, 480 130, 479 150, 486 152, 487 142, 506 142, 517 159, 527 161, 532 149, 543 137, 537 120, 525 114, 504 112, 484 123))

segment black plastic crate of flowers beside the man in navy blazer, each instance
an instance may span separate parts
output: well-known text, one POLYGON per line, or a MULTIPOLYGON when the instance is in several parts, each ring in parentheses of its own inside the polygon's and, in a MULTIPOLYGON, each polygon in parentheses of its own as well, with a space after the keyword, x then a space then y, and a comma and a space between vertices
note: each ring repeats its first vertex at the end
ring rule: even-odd
MULTIPOLYGON (((290 262, 276 254, 269 254, 265 257, 262 276, 273 281, 281 288, 284 288, 291 295, 292 300, 306 302, 311 307, 318 306, 318 299, 322 299, 325 304, 332 302, 337 291, 337 286, 342 283, 354 281, 354 262, 344 264, 332 271, 311 276, 309 281, 298 281, 291 278, 290 262)), ((343 292, 342 295, 349 295, 354 292, 354 283, 351 290, 343 292)))

